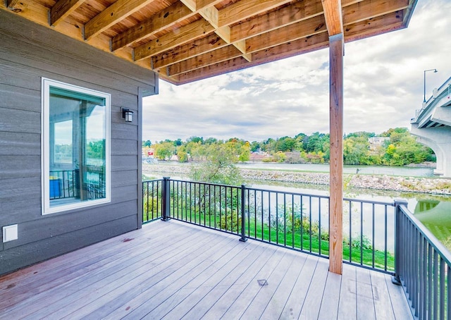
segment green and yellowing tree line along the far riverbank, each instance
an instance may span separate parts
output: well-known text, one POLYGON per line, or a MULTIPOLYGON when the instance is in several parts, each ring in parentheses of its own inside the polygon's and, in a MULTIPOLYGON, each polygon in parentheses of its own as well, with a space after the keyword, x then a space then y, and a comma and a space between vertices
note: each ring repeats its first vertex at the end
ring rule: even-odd
MULTIPOLYGON (((209 154, 229 154, 233 161, 249 161, 251 154, 264 155, 261 161, 286 163, 325 164, 330 159, 330 136, 328 133, 299 133, 295 137, 268 138, 263 141, 248 142, 237 137, 218 140, 214 137, 190 137, 185 142, 164 140, 152 144, 143 141, 144 148, 152 148, 157 159, 171 159, 177 155, 178 161, 206 161, 209 154)), ((435 161, 433 151, 416 142, 407 128, 390 128, 375 133, 357 132, 343 137, 343 161, 345 164, 404 166, 435 161), (378 140, 373 143, 370 138, 378 140)))

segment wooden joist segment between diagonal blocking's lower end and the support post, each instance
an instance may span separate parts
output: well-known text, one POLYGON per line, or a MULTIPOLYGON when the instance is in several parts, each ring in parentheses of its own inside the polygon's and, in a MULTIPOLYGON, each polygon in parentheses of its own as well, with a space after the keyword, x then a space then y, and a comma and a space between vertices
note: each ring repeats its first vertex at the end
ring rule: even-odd
POLYGON ((258 35, 246 40, 247 52, 260 51, 278 44, 294 41, 303 37, 309 37, 321 32, 325 32, 326 22, 324 16, 316 16, 299 23, 287 25, 275 31, 258 35))

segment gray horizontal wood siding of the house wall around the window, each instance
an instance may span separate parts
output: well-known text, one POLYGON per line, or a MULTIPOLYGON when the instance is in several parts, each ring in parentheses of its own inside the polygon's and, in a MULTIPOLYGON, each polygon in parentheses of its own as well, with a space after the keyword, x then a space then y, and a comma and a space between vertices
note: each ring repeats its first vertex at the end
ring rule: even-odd
POLYGON ((0 11, 0 274, 140 228, 142 90, 158 75, 0 11), (110 203, 42 215, 42 78, 111 94, 110 203))

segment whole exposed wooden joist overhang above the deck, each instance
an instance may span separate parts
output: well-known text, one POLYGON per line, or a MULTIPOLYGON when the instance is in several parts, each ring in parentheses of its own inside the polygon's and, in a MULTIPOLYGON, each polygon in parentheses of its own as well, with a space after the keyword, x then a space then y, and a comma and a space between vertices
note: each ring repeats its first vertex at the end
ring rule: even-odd
POLYGON ((5 0, 8 11, 180 85, 407 27, 416 0, 5 0))

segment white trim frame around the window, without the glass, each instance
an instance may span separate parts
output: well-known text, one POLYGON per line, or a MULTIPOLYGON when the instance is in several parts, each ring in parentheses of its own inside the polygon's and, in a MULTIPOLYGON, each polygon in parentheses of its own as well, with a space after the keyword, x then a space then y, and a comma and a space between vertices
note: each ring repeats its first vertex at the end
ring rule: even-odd
POLYGON ((111 202, 111 94, 105 92, 99 92, 97 90, 90 90, 84 87, 78 87, 76 85, 69 85, 68 83, 51 80, 48 78, 42 78, 42 113, 41 113, 41 162, 42 162, 42 180, 41 180, 41 190, 42 190, 42 215, 54 214, 56 212, 68 211, 73 209, 80 209, 85 207, 92 207, 97 204, 104 204, 111 202), (105 195, 104 199, 89 200, 85 202, 75 202, 72 204, 64 204, 61 206, 50 207, 50 118, 49 118, 49 98, 50 98, 50 87, 60 87, 62 89, 81 92, 84 94, 90 94, 92 96, 102 97, 105 99, 105 195))

